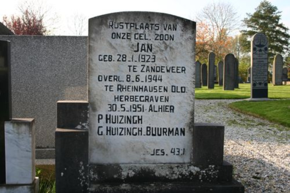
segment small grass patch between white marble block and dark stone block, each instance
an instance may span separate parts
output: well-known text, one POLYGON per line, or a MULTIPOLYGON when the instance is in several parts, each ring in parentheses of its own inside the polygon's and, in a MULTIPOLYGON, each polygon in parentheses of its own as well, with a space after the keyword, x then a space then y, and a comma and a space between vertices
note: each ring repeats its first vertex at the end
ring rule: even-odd
POLYGON ((55 193, 54 165, 37 165, 36 176, 39 177, 39 193, 55 193))

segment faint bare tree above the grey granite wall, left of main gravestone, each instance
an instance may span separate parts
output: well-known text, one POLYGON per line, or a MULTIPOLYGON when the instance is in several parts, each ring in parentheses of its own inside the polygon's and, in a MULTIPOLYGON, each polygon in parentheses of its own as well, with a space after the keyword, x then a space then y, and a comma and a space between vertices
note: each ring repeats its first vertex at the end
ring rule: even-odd
POLYGON ((81 36, 88 30, 86 17, 81 13, 75 13, 68 21, 68 29, 76 36, 81 36))

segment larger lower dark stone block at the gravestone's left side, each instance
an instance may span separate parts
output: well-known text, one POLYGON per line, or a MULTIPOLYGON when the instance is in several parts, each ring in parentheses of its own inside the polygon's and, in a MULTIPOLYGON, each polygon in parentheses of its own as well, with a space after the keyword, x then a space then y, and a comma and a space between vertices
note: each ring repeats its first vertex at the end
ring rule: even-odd
POLYGON ((56 192, 86 192, 88 188, 88 130, 55 131, 56 192))

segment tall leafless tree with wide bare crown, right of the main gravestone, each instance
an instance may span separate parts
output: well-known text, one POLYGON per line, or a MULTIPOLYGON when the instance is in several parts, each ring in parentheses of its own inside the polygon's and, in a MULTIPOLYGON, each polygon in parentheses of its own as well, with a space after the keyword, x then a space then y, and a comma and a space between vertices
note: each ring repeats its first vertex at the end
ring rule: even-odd
POLYGON ((197 15, 197 24, 206 23, 209 27, 206 33, 211 37, 211 50, 220 60, 228 52, 229 35, 240 26, 237 13, 229 3, 210 3, 197 15))

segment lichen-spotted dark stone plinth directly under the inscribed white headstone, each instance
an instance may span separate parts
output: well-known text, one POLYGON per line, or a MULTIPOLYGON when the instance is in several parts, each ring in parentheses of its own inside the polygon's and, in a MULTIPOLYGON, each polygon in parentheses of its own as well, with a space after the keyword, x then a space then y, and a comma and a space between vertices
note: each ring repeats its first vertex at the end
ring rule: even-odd
POLYGON ((213 182, 232 181, 233 166, 224 161, 220 166, 180 164, 114 164, 90 165, 90 183, 140 182, 213 182))

